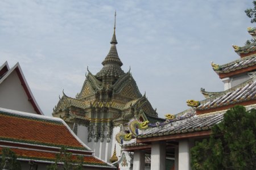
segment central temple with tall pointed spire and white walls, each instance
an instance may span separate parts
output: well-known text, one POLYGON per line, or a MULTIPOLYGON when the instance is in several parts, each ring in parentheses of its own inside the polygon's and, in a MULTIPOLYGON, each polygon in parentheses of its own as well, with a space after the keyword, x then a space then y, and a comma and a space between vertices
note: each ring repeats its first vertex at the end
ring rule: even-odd
POLYGON ((95 75, 88 69, 81 91, 76 97, 69 97, 63 92, 52 115, 67 122, 96 156, 114 162, 121 155, 116 135, 122 132, 128 134, 127 139, 135 138, 128 128, 130 120, 164 120, 158 118, 146 95, 139 92, 130 70, 125 73, 121 68, 123 63, 117 53, 115 20, 110 44, 102 69, 95 75))

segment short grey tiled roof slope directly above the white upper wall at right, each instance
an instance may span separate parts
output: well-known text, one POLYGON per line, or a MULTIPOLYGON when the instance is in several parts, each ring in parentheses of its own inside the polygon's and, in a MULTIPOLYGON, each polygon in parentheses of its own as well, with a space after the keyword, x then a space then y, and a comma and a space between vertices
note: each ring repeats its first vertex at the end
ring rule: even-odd
POLYGON ((254 65, 256 65, 256 54, 221 65, 220 69, 216 70, 216 73, 230 73, 254 65))

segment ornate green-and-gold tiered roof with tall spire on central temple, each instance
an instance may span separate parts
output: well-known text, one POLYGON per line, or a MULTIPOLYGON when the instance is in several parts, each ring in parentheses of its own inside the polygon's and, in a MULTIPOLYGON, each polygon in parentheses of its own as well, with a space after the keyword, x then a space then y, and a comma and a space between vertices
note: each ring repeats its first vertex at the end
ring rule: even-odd
MULTIPOLYGON (((130 70, 125 73, 121 69, 123 63, 117 53, 115 24, 110 44, 110 51, 102 62, 102 69, 96 75, 88 70, 76 99, 63 93, 59 103, 53 108, 53 116, 73 114, 73 118, 81 116, 84 117, 82 120, 97 122, 102 122, 104 117, 108 122, 113 121, 114 126, 127 123, 134 116, 142 116, 153 122, 163 121, 158 118, 146 96, 142 96, 130 70), (100 114, 96 114, 96 110, 100 114)), ((74 119, 71 120, 68 116, 66 118, 71 124, 75 123, 74 119)))

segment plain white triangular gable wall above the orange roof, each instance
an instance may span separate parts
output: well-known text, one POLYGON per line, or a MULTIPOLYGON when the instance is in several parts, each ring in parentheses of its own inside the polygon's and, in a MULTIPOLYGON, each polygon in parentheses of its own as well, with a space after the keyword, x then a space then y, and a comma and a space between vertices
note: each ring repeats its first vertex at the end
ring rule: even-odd
POLYGON ((0 107, 16 111, 36 113, 24 88, 22 87, 18 74, 13 71, 0 84, 0 107))

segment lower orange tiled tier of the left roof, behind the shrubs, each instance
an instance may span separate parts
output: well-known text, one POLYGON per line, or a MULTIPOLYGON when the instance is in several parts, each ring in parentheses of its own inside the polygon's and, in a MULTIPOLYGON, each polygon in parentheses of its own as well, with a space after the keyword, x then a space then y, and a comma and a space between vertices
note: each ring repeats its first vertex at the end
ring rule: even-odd
MULTIPOLYGON (((2 154, 2 148, 0 147, 0 155, 2 154)), ((12 151, 18 157, 18 160, 36 160, 38 162, 47 162, 47 163, 54 163, 55 162, 55 155, 57 152, 49 152, 49 151, 39 151, 39 150, 27 150, 23 148, 16 148, 10 147, 12 151)), ((97 159, 94 156, 84 155, 84 162, 83 165, 90 166, 90 167, 112 167, 108 163, 103 162, 100 159, 97 159)), ((73 155, 73 160, 76 160, 76 156, 73 155)))

